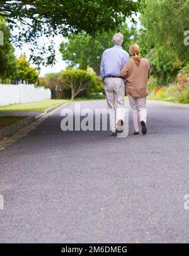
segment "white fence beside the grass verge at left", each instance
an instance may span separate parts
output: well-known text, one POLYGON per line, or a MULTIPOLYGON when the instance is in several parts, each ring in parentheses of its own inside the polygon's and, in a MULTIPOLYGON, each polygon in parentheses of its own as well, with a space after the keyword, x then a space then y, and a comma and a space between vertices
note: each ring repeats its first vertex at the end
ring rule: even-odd
POLYGON ((33 84, 0 84, 0 106, 14 103, 40 102, 51 98, 50 89, 33 84))

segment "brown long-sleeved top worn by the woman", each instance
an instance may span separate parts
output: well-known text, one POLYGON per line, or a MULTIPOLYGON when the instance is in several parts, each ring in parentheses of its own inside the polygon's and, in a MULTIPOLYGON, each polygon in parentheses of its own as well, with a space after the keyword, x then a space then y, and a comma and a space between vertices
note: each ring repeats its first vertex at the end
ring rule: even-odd
POLYGON ((139 66, 134 59, 129 59, 120 71, 120 75, 127 79, 126 90, 135 98, 143 98, 148 95, 147 81, 151 73, 151 67, 147 59, 140 59, 139 66))

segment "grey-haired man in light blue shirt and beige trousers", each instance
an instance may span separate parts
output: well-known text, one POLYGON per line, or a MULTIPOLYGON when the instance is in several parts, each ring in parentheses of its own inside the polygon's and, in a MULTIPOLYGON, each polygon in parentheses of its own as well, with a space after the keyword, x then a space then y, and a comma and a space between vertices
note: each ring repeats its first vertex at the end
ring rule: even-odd
POLYGON ((120 71, 129 60, 129 54, 122 49, 123 35, 113 36, 114 46, 106 49, 101 57, 100 73, 104 81, 110 127, 112 135, 116 136, 123 127, 123 107, 125 96, 125 81, 120 77, 120 71))

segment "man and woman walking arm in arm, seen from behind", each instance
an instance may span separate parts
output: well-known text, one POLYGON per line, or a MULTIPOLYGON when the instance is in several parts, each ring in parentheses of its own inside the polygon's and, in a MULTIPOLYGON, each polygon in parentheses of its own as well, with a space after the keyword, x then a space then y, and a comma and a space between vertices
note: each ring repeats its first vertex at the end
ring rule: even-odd
POLYGON ((110 113, 112 135, 116 136, 117 132, 123 131, 125 86, 132 109, 134 134, 139 134, 139 123, 142 134, 146 134, 147 81, 151 73, 149 61, 140 56, 137 44, 130 45, 130 58, 129 53, 122 49, 123 35, 120 33, 113 36, 113 44, 114 46, 106 49, 101 57, 101 78, 110 113))

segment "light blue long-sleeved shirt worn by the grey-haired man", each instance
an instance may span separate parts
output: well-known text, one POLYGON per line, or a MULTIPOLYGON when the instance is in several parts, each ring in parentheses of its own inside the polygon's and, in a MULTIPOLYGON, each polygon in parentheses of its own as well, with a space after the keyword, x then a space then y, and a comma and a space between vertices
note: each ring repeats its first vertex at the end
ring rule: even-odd
POLYGON ((128 60, 128 52, 123 50, 120 45, 114 45, 112 48, 106 49, 101 57, 101 78, 120 76, 120 71, 128 60))

